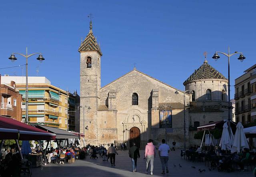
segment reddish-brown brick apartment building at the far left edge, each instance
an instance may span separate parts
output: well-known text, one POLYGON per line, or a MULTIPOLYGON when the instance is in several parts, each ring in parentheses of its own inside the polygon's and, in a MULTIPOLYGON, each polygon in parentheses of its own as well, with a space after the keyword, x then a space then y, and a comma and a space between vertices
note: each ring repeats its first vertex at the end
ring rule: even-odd
POLYGON ((11 117, 17 121, 22 119, 21 101, 22 95, 16 89, 16 84, 10 81, 10 85, 2 82, 0 75, 0 116, 11 117))

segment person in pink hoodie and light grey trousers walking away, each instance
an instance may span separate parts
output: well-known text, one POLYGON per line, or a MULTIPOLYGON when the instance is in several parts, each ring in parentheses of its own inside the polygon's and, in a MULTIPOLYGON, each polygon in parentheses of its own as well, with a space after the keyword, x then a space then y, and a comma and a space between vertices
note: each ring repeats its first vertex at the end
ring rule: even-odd
POLYGON ((153 145, 153 140, 149 139, 148 144, 145 147, 145 159, 146 159, 146 174, 148 174, 148 165, 150 163, 150 175, 153 175, 154 159, 156 158, 156 147, 153 145))

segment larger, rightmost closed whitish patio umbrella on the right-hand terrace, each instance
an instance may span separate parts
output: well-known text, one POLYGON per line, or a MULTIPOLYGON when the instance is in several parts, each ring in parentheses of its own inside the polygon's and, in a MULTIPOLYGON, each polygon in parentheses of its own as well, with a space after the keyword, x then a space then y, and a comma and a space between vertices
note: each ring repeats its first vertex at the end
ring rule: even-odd
POLYGON ((244 127, 241 122, 236 125, 236 133, 234 137, 234 144, 231 149, 231 153, 240 152, 240 149, 249 148, 244 134, 244 127))

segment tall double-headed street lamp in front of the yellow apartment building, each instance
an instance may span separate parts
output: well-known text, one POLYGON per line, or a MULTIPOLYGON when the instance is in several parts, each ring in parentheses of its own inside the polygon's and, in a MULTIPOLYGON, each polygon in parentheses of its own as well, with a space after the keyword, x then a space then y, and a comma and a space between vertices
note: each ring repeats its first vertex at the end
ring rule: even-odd
MULTIPOLYGON (((17 60, 14 54, 19 54, 19 53, 12 53, 12 55, 9 58, 11 62, 14 62, 15 60, 17 60)), ((41 55, 41 53, 35 53, 35 54, 39 54, 38 58, 36 59, 39 60, 40 63, 42 63, 44 60, 44 57, 41 55)), ((19 54, 26 58, 26 124, 28 124, 28 58, 35 54, 28 55, 28 48, 26 48, 26 55, 19 54)))

